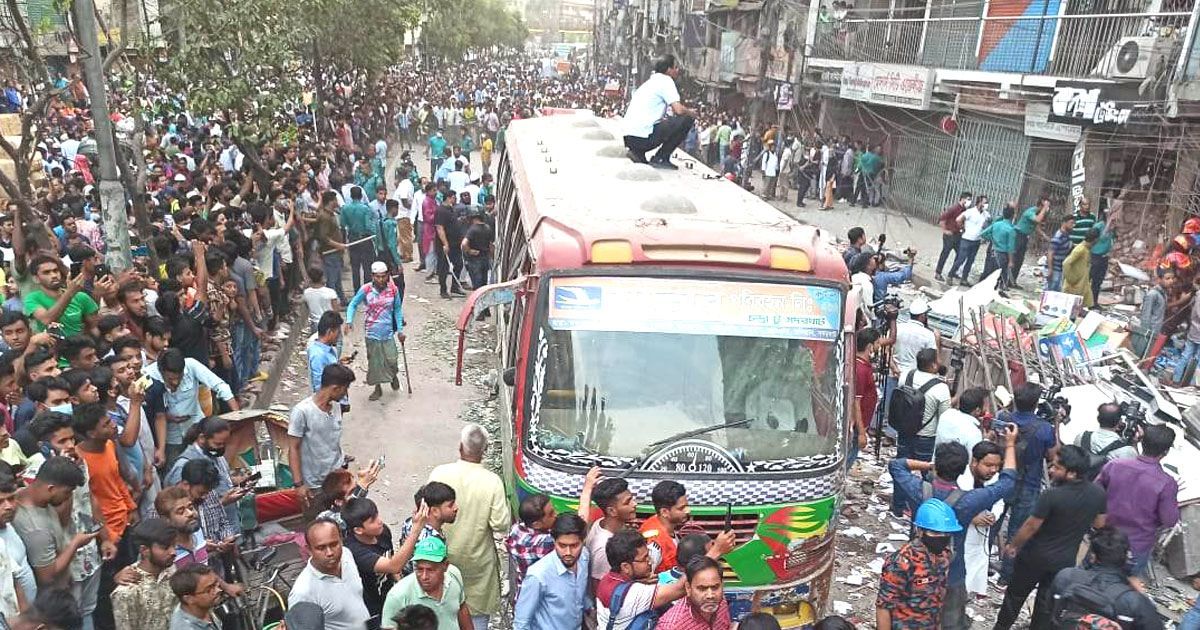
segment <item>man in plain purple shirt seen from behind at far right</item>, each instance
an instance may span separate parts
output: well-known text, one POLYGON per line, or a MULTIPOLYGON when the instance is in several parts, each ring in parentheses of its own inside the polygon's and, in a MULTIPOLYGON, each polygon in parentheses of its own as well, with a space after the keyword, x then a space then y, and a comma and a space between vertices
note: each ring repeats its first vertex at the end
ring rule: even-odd
POLYGON ((1108 491, 1108 522, 1129 536, 1134 575, 1145 575, 1158 533, 1180 522, 1180 486, 1166 470, 1163 457, 1175 444, 1166 425, 1147 425, 1141 436, 1141 455, 1104 464, 1096 484, 1108 491))

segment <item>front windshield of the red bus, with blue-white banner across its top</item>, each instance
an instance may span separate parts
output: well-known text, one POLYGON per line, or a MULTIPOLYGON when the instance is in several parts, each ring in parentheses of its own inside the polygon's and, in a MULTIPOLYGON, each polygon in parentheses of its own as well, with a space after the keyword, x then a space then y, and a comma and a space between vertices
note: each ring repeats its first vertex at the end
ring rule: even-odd
POLYGON ((538 450, 638 458, 695 432, 739 466, 836 452, 839 289, 569 277, 545 300, 538 450))

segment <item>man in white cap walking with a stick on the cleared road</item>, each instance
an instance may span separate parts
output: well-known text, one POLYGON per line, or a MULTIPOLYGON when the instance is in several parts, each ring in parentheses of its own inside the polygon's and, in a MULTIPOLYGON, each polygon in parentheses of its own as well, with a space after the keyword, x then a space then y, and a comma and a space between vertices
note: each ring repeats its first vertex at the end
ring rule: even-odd
POLYGON ((377 401, 383 396, 382 385, 390 383, 392 390, 400 389, 398 359, 396 342, 404 342, 404 317, 401 312, 403 295, 396 288, 388 265, 382 260, 371 263, 371 282, 359 288, 346 308, 346 334, 350 334, 354 313, 365 305, 366 314, 362 330, 367 343, 367 385, 374 385, 368 400, 377 401))

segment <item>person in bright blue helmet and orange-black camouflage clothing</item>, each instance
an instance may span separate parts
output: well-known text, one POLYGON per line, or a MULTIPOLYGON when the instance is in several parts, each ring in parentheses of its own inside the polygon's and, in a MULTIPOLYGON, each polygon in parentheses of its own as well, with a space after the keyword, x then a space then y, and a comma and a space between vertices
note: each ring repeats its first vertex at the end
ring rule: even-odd
POLYGON ((875 626, 937 628, 950 569, 950 534, 962 530, 954 509, 926 499, 913 518, 917 538, 883 563, 875 598, 875 626))

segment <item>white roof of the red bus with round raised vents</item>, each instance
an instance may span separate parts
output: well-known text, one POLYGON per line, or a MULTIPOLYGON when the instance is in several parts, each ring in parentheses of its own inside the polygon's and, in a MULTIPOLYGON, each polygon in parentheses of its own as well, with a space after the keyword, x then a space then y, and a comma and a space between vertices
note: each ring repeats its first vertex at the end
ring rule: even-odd
POLYGON ((847 281, 829 234, 683 151, 673 156, 678 170, 635 164, 619 120, 587 110, 515 120, 505 151, 539 270, 704 264, 847 281))

